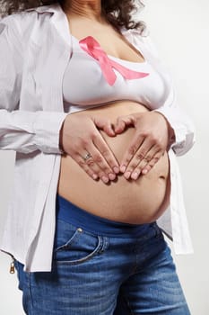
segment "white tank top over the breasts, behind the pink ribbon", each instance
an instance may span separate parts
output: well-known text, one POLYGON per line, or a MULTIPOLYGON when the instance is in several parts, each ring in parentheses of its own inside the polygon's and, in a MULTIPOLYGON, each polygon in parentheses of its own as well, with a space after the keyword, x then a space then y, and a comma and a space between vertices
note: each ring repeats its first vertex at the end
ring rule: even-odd
POLYGON ((106 55, 109 60, 130 70, 148 73, 143 78, 126 79, 117 69, 114 85, 109 85, 100 62, 91 57, 72 35, 73 53, 65 69, 63 100, 65 112, 79 112, 120 100, 131 100, 156 109, 164 103, 168 93, 167 76, 162 76, 144 56, 144 62, 132 62, 106 55))

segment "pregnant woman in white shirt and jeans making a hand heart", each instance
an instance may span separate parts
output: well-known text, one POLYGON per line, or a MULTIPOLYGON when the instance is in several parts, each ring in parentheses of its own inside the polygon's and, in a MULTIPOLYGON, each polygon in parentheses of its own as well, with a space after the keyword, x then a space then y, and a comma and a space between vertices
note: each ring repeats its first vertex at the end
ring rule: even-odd
POLYGON ((162 231, 192 251, 175 153, 194 128, 134 1, 4 4, 0 148, 16 159, 1 250, 25 313, 189 314, 162 231))

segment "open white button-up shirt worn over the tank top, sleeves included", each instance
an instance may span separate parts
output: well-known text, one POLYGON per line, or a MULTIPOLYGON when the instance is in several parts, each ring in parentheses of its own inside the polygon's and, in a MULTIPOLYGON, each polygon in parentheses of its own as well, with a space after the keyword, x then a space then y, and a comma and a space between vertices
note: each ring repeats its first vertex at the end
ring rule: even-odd
MULTIPOLYGON (((136 48, 165 73, 149 36, 123 30, 136 48)), ((50 271, 55 234, 56 194, 61 151, 59 131, 65 116, 62 80, 71 58, 71 34, 59 4, 40 6, 0 21, 0 149, 15 150, 4 237, 0 248, 29 272, 50 271)), ((168 76, 169 77, 169 76, 168 76)), ((169 150, 170 207, 158 220, 177 254, 193 251, 176 156, 194 144, 194 126, 175 102, 170 80, 161 112, 175 131, 169 150)))

